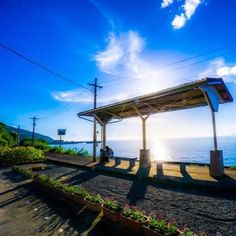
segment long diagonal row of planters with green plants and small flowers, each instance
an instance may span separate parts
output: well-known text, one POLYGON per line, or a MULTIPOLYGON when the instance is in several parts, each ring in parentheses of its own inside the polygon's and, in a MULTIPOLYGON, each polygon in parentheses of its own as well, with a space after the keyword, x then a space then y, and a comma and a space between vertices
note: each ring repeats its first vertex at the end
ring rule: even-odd
POLYGON ((103 200, 100 195, 93 195, 80 186, 66 185, 46 175, 35 174, 23 167, 14 166, 12 170, 32 178, 34 182, 75 203, 86 205, 92 211, 100 212, 102 208, 105 217, 113 222, 120 221, 123 226, 137 233, 144 233, 146 236, 196 236, 189 229, 180 231, 176 223, 167 221, 163 217, 148 217, 136 207, 128 205, 122 207, 116 200, 103 200))

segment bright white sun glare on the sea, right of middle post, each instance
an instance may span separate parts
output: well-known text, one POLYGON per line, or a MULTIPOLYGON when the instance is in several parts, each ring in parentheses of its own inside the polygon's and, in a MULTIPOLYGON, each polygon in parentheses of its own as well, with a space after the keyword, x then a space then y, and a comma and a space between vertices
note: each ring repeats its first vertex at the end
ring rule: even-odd
POLYGON ((161 139, 150 140, 150 155, 152 161, 169 161, 172 160, 170 150, 165 142, 161 139))

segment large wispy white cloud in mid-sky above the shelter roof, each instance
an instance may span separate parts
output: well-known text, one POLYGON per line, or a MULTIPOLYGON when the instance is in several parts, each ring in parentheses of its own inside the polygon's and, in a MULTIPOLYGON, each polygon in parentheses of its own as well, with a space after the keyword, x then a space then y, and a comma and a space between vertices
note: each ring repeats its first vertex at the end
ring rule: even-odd
POLYGON ((107 74, 151 79, 159 71, 142 56, 144 48, 145 39, 135 31, 119 36, 110 33, 106 49, 98 52, 94 58, 100 71, 107 74))

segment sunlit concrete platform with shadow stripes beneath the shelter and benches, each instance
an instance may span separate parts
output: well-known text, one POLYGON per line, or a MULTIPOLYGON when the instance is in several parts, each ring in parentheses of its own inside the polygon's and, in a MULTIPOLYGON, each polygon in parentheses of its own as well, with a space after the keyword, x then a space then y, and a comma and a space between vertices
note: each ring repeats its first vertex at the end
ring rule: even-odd
POLYGON ((150 168, 139 168, 138 161, 135 162, 135 166, 130 167, 129 161, 122 160, 119 165, 116 165, 114 159, 104 165, 99 164, 99 162, 92 162, 91 158, 79 156, 59 157, 48 155, 47 159, 49 161, 91 168, 98 171, 148 178, 152 181, 190 187, 210 187, 216 190, 236 191, 236 169, 234 168, 225 168, 225 175, 223 177, 213 178, 209 174, 209 166, 202 164, 152 162, 150 168))

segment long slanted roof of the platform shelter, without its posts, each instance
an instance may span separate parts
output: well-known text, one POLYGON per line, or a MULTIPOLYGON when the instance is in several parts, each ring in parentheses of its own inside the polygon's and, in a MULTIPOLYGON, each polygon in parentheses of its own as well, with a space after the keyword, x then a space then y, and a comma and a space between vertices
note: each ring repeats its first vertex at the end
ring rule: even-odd
MULTIPOLYGON (((144 96, 79 112, 79 117, 96 117, 102 122, 146 116, 154 113, 177 111, 209 105, 206 91, 213 91, 218 103, 232 102, 233 98, 221 78, 205 78, 168 88, 144 96)), ((209 93, 210 95, 210 93, 209 93)))

